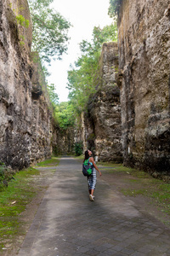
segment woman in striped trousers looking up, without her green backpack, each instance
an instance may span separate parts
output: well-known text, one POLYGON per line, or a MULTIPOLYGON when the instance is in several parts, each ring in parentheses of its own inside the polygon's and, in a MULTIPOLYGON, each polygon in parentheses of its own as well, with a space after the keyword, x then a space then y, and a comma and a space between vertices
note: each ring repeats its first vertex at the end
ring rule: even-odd
POLYGON ((89 191, 89 199, 90 201, 94 201, 94 189, 96 185, 96 170, 99 172, 99 176, 101 176, 101 172, 99 171, 98 166, 94 163, 94 158, 92 157, 92 151, 86 150, 84 154, 84 160, 88 160, 91 165, 92 173, 88 176, 88 191, 89 191))

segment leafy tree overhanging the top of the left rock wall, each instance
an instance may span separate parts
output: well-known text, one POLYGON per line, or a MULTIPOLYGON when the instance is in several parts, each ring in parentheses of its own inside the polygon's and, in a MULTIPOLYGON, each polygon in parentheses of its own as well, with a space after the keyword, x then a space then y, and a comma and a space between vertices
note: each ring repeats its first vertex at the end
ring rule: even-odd
POLYGON ((71 24, 49 7, 54 0, 29 0, 33 22, 32 50, 38 51, 43 61, 50 63, 51 56, 58 59, 67 50, 67 33, 71 24))

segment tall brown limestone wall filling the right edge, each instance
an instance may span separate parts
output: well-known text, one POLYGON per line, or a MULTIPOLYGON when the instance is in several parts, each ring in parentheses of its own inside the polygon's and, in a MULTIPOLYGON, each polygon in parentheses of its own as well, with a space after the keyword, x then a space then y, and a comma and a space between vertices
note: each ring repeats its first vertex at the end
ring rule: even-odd
POLYGON ((118 16, 124 163, 170 170, 170 0, 122 0, 118 16))

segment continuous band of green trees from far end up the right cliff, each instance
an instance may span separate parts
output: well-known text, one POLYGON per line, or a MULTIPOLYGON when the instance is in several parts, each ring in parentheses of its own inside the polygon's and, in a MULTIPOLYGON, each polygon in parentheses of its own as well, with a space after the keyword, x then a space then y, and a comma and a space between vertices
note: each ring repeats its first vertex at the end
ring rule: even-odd
POLYGON ((83 40, 80 44, 82 56, 68 72, 69 102, 58 102, 54 84, 48 85, 50 100, 54 107, 54 118, 59 128, 66 130, 75 125, 77 115, 85 111, 88 98, 99 87, 99 57, 105 41, 116 40, 116 24, 101 29, 94 27, 93 40, 83 40))

